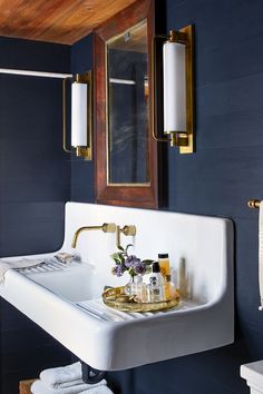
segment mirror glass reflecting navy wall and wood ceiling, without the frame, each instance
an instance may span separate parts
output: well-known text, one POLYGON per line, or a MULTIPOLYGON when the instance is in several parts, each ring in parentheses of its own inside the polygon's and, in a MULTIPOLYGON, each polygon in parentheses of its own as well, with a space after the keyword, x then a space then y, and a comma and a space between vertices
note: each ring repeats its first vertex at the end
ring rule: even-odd
POLYGON ((147 21, 106 42, 108 184, 147 184, 147 21))

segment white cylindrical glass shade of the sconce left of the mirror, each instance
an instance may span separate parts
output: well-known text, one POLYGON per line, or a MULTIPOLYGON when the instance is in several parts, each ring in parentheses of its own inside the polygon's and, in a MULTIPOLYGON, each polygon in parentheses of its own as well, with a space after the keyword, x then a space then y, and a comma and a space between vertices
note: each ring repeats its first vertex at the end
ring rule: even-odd
POLYGON ((71 85, 71 146, 86 147, 88 144, 87 125, 87 83, 71 85))

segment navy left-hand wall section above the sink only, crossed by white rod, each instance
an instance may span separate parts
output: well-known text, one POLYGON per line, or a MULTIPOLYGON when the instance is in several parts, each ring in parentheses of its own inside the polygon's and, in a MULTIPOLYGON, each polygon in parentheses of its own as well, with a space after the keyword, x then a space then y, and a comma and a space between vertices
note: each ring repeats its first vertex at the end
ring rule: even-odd
MULTIPOLYGON (((0 38, 0 55, 3 68, 70 70, 67 46, 0 38)), ((61 129, 61 80, 0 75, 1 256, 52 250, 62 242, 70 157, 61 129)))

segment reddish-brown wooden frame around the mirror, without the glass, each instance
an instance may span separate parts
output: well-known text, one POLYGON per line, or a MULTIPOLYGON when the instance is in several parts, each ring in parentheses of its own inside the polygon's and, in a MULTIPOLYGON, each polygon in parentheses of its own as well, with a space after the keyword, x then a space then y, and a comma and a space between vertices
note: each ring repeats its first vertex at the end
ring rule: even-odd
POLYGON ((95 76, 95 174, 96 201, 129 207, 158 207, 157 144, 152 137, 153 100, 149 99, 148 170, 149 183, 144 185, 110 185, 107 174, 107 91, 106 91, 106 42, 147 20, 148 35, 148 81, 152 91, 152 38, 155 35, 155 1, 138 0, 117 13, 94 31, 94 76, 95 76))

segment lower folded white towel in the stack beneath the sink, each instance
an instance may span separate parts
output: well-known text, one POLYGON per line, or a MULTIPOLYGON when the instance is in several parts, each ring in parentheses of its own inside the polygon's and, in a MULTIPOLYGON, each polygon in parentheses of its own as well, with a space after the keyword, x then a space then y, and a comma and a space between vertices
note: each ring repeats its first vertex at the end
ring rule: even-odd
MULTIPOLYGON (((101 383, 101 382, 98 383, 98 384, 95 384, 95 385, 82 383, 82 384, 77 384, 75 386, 65 387, 65 388, 52 388, 50 386, 47 386, 43 383, 43 381, 38 380, 38 381, 33 382, 33 384, 31 385, 31 393, 33 393, 33 394, 79 394, 79 393, 82 393, 82 392, 89 393, 89 390, 90 391, 94 390, 94 388, 98 388, 99 390, 100 387, 104 387, 106 382, 105 381, 104 381, 104 383, 101 383)), ((97 394, 97 393, 100 393, 100 392, 95 392, 95 394, 97 394)))

